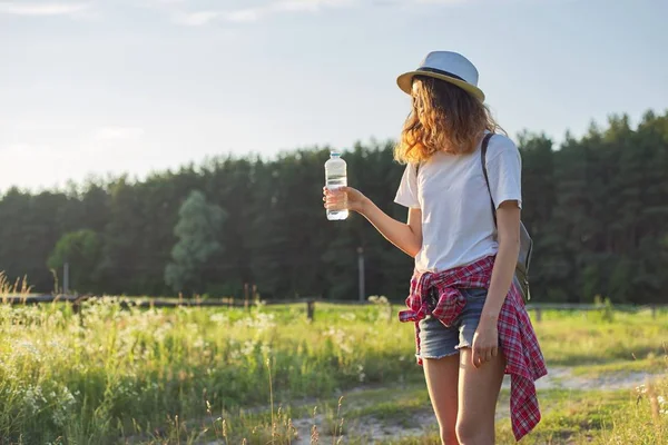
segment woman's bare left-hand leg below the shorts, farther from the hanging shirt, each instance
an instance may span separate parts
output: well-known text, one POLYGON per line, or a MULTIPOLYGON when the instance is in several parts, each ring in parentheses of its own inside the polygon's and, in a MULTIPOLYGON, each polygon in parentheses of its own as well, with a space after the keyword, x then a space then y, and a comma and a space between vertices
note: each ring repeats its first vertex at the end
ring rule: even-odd
POLYGON ((429 397, 439 421, 443 445, 459 445, 456 441, 459 354, 423 360, 429 397))

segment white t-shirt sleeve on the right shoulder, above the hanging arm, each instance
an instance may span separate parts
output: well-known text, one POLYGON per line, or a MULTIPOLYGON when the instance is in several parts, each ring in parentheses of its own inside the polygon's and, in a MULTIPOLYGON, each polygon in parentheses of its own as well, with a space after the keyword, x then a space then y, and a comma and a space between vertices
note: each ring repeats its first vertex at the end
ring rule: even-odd
POLYGON ((522 208, 522 159, 514 142, 504 136, 494 136, 488 148, 487 168, 494 207, 517 200, 522 208))

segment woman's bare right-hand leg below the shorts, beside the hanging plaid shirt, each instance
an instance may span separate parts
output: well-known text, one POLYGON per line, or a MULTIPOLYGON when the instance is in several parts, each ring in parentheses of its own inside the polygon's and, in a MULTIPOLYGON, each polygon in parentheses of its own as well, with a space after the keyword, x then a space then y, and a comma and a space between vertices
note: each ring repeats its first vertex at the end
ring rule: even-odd
POLYGON ((477 368, 471 348, 460 349, 456 437, 461 445, 493 445, 494 414, 503 382, 505 356, 499 352, 477 368))

